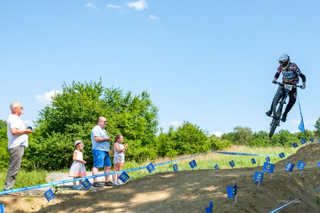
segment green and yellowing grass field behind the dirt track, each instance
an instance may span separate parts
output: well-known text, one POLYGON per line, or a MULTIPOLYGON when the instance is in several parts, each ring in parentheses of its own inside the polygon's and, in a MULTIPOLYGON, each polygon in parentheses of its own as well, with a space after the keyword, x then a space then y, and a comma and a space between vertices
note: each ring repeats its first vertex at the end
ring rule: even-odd
MULTIPOLYGON (((264 148, 249 148, 246 146, 232 146, 229 149, 223 150, 223 152, 238 152, 238 153, 250 153, 250 154, 279 154, 283 152, 284 154, 294 154, 297 148, 283 148, 283 147, 264 147, 264 148)), ((173 161, 181 158, 186 158, 192 155, 183 155, 177 157, 165 157, 165 158, 158 158, 156 160, 149 160, 143 163, 136 163, 136 162, 125 162, 123 165, 123 170, 132 169, 137 167, 147 166, 149 163, 158 164, 168 161, 173 161)), ((189 166, 189 162, 191 160, 195 160, 197 167, 195 169, 214 169, 214 165, 218 164, 220 169, 231 169, 229 162, 231 160, 234 161, 235 167, 233 168, 247 168, 247 167, 256 167, 262 166, 263 162, 265 162, 266 156, 237 156, 237 155, 225 155, 225 154, 212 154, 212 164, 211 164, 211 153, 200 155, 192 158, 187 158, 185 160, 180 160, 174 163, 169 163, 161 166, 155 167, 154 173, 161 173, 167 171, 173 171, 172 166, 173 164, 177 164, 179 171, 183 170, 191 170, 189 166), (251 159, 254 158, 256 161, 255 165, 252 165, 251 159)), ((270 163, 274 164, 280 161, 279 156, 270 156, 270 163)), ((233 169, 232 168, 232 169, 233 169)), ((89 170, 90 168, 87 168, 89 170)), ((61 172, 68 172, 68 169, 61 172)), ((32 172, 24 172, 19 171, 17 174, 16 182, 14 184, 14 188, 26 187, 26 186, 33 186, 37 184, 46 183, 45 177, 46 174, 49 173, 47 171, 32 171, 32 172)), ((128 175, 132 179, 138 179, 146 175, 151 175, 146 169, 136 170, 132 172, 128 172, 128 175)), ((0 171, 0 190, 3 190, 3 185, 6 177, 6 170, 0 171)))

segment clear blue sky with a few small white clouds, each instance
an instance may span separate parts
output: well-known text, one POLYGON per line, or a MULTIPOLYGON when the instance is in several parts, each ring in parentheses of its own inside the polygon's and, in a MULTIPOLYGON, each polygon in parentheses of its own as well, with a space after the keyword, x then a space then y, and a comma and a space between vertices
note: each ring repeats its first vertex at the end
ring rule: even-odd
MULTIPOLYGON (((95 81, 140 94, 160 125, 210 134, 269 130, 265 116, 282 53, 306 76, 306 129, 320 117, 317 0, 27 0, 0 4, 0 119, 20 101, 30 125, 63 82, 95 81)), ((301 81, 300 81, 301 83, 301 81)), ((296 104, 278 129, 297 132, 296 104)))

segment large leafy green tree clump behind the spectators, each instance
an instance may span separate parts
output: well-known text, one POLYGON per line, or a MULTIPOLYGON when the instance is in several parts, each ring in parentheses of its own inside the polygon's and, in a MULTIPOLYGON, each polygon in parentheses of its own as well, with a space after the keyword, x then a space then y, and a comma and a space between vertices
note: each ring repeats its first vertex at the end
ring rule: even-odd
POLYGON ((131 92, 123 94, 119 88, 104 88, 101 80, 64 83, 62 93, 55 94, 51 104, 39 112, 25 153, 28 161, 23 166, 67 168, 72 163, 73 142, 80 139, 87 167, 92 167, 90 134, 100 116, 106 118, 105 129, 111 138, 122 134, 128 143, 127 160, 156 158, 151 145, 157 132, 157 112, 146 91, 134 96, 131 92))

